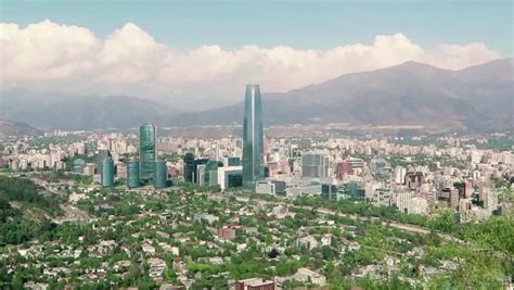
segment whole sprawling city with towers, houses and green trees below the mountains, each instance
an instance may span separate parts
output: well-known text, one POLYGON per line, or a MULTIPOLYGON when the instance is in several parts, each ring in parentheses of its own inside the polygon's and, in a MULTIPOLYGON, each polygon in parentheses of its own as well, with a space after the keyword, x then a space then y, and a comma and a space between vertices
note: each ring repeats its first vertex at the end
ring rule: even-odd
POLYGON ((0 288, 512 289, 512 133, 268 136, 262 110, 248 85, 236 135, 2 140, 0 288))

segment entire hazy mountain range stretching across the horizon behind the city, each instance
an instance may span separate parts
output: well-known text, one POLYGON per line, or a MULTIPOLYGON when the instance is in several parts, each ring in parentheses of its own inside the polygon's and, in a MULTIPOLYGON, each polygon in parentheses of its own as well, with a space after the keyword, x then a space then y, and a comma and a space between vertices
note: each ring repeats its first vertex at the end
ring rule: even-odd
MULTIPOLYGON (((513 85, 512 59, 460 71, 407 62, 287 92, 262 93, 262 113, 265 126, 346 123, 513 129, 513 85)), ((35 98, 29 91, 11 91, 2 93, 0 104, 1 118, 42 129, 131 128, 145 122, 160 126, 223 125, 243 119, 243 102, 181 113, 171 105, 136 97, 35 98)))

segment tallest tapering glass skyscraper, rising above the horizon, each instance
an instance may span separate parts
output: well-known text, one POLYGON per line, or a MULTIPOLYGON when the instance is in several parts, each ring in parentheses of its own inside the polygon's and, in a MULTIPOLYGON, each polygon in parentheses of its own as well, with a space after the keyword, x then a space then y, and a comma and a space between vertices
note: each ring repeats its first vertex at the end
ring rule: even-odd
POLYGON ((259 85, 246 85, 243 121, 243 189, 265 178, 262 109, 259 85))

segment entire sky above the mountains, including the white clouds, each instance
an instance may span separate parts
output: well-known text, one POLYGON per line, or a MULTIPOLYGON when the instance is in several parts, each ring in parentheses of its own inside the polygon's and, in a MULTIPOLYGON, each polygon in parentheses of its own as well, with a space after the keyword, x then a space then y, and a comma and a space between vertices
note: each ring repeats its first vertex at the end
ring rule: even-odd
POLYGON ((2 91, 205 109, 406 61, 513 54, 511 1, 0 1, 2 91))

